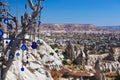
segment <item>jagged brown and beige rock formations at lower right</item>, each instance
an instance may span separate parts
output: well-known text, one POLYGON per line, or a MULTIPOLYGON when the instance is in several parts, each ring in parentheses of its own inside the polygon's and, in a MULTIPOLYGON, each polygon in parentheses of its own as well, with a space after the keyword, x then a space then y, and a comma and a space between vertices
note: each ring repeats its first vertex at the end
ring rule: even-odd
POLYGON ((74 47, 72 43, 69 42, 69 45, 66 47, 67 56, 70 60, 74 60, 73 62, 77 65, 84 65, 85 69, 93 70, 94 76, 97 80, 106 80, 106 73, 120 73, 120 64, 119 64, 119 48, 114 48, 113 53, 106 53, 102 55, 90 55, 87 54, 85 47, 74 47), (77 52, 77 54, 75 53, 77 52), (109 60, 107 57, 113 57, 114 60, 109 60))

